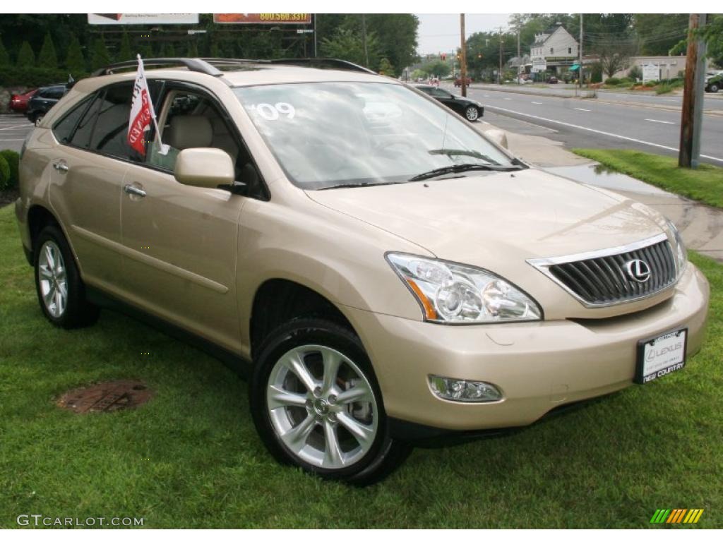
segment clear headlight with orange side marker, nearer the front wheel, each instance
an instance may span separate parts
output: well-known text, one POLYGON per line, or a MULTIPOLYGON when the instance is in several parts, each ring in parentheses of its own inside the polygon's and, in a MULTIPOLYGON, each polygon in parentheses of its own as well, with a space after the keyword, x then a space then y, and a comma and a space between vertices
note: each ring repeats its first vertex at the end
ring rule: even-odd
POLYGON ((471 324, 539 320, 542 309, 526 293, 489 271, 411 254, 387 254, 428 322, 471 324))

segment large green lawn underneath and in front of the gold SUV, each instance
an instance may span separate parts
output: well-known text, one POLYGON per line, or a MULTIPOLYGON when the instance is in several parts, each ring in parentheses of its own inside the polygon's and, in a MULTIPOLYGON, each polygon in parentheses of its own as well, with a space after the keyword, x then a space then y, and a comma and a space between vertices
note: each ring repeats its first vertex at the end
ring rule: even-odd
POLYGON ((0 209, 0 528, 20 514, 143 517, 148 528, 723 527, 723 266, 709 339, 684 371, 525 431, 416 449, 366 489, 275 463, 246 384, 223 364, 103 311, 85 330, 40 314, 12 207, 0 209), (141 352, 150 352, 142 356, 141 352), (137 410, 76 415, 62 392, 144 379, 137 410), (650 525, 658 508, 697 525, 650 525))

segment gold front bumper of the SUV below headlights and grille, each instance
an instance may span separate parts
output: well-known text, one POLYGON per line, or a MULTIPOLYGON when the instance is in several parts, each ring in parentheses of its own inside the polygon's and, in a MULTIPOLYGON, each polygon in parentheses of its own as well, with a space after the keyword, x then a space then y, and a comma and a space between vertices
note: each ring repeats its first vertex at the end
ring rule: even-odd
POLYGON ((667 301, 621 317, 518 324, 439 325, 348 309, 372 360, 388 416, 438 429, 524 426, 565 403, 633 384, 638 340, 688 328, 701 348, 709 285, 688 264, 667 301), (432 394, 429 374, 495 384, 496 403, 454 403, 432 394))

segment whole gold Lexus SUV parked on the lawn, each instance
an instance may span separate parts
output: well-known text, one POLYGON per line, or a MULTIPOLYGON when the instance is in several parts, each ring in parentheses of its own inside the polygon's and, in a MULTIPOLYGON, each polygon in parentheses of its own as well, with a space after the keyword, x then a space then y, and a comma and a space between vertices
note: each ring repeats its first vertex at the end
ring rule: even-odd
POLYGON ((69 328, 112 301, 241 361, 278 460, 370 483, 417 439, 655 385, 701 348, 709 287, 658 212, 343 61, 146 65, 144 153, 134 62, 27 137, 40 308, 69 328))

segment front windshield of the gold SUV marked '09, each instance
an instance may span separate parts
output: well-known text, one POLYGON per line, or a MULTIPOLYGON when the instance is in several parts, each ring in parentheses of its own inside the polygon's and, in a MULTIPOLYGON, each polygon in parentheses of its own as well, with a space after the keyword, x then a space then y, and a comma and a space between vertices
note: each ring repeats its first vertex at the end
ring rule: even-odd
POLYGON ((320 82, 234 92, 288 178, 303 189, 406 182, 450 166, 518 164, 460 116, 402 85, 320 82))

